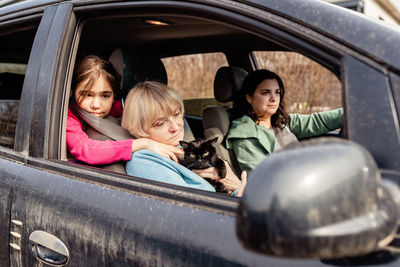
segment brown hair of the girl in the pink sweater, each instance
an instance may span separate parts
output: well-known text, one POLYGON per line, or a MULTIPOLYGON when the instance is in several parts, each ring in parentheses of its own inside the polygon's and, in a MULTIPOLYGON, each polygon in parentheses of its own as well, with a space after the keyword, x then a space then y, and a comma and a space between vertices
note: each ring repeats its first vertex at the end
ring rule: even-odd
MULTIPOLYGON (((87 80, 83 91, 89 91, 94 82, 100 77, 104 77, 110 83, 114 97, 117 96, 118 92, 120 91, 121 76, 117 73, 109 61, 95 55, 90 55, 83 58, 75 70, 74 77, 72 79, 73 99, 75 100, 75 89, 78 84, 87 80)), ((79 104, 81 101, 83 101, 82 96, 80 96, 76 102, 79 104)))

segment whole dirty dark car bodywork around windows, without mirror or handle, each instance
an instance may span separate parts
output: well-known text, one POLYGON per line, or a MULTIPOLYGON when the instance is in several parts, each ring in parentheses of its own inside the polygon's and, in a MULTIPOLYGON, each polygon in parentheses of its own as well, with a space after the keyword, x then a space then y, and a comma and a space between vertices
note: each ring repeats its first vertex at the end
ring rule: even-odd
MULTIPOLYGON (((400 171, 400 34, 367 24, 358 14, 308 0, 21 2, 0 9, 0 26, 30 16, 43 18, 25 77, 15 149, 0 149, 0 220, 8 225, 0 232, 0 265, 41 266, 28 248, 29 235, 36 230, 66 245, 70 266, 334 264, 245 250, 235 232, 238 199, 61 162, 63 105, 80 19, 128 8, 218 21, 298 48, 331 70, 339 69, 345 136, 367 148, 379 167, 400 171), (352 31, 346 30, 349 18, 352 31), (390 82, 388 69, 393 71, 390 82), (9 231, 15 230, 11 219, 22 222, 15 228, 22 235, 16 241, 21 250, 8 244, 9 231)), ((364 264, 362 259, 355 263, 364 264)), ((386 264, 397 266, 398 260, 386 264)))

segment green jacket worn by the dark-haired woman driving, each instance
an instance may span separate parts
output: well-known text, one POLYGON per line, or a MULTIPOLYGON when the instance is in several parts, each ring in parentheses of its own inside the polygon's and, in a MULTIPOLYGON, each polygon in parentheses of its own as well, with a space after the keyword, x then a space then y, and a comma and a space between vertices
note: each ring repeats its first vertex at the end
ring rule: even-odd
MULTIPOLYGON (((343 109, 313 113, 290 114, 289 130, 298 138, 318 136, 343 126, 343 109)), ((226 147, 233 149, 239 166, 244 171, 253 170, 268 154, 274 152, 274 131, 256 124, 245 115, 232 122, 226 147)))

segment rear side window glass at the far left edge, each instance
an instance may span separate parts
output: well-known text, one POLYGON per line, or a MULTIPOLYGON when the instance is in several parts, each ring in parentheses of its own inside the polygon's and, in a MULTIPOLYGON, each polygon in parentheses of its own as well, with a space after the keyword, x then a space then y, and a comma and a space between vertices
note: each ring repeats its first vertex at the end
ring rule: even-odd
POLYGON ((0 29, 0 146, 14 147, 19 100, 36 30, 33 24, 0 29))

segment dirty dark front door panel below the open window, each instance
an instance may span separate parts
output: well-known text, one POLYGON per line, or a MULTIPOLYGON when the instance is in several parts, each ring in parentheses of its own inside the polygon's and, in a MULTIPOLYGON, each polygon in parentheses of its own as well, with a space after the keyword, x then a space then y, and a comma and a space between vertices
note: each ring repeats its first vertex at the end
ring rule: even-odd
MULTIPOLYGON (((11 217, 24 225, 21 244, 33 231, 46 231, 69 249, 71 266, 322 266, 245 250, 229 212, 1 162, 23 174, 11 209, 11 217)), ((34 266, 36 260, 22 248, 11 254, 11 262, 23 259, 22 266, 34 266)))

